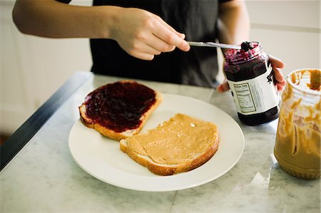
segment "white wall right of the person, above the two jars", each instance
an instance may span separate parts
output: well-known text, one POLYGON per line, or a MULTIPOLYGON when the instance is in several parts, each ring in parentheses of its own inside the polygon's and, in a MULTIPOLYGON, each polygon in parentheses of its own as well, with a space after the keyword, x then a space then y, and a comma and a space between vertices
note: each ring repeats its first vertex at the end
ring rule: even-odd
POLYGON ((285 62, 283 73, 320 68, 320 1, 246 1, 250 38, 285 62))

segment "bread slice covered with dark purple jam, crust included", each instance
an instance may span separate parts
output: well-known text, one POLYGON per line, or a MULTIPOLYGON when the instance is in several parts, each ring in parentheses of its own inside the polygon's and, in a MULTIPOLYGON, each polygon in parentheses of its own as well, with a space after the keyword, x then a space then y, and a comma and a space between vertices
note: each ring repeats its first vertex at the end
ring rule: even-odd
POLYGON ((162 100, 160 92, 146 85, 120 80, 89 93, 79 113, 88 128, 119 141, 139 133, 162 100))

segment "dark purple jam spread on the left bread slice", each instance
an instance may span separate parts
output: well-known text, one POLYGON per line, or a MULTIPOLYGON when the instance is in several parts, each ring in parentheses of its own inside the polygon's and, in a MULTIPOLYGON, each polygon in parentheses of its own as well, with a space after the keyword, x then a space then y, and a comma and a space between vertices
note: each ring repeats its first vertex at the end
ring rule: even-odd
POLYGON ((116 133, 138 128, 141 115, 154 103, 155 91, 135 81, 103 85, 85 100, 88 118, 116 133))

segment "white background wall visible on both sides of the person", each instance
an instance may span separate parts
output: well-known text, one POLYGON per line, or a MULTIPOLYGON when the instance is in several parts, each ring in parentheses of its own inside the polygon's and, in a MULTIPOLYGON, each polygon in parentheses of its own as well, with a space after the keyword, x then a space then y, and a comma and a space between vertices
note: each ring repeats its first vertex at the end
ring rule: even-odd
MULTIPOLYGON (((40 1, 40 0, 39 0, 40 1)), ((72 4, 90 6, 90 0, 72 4)), ((246 1, 251 41, 297 68, 320 68, 320 1, 246 1)), ((88 39, 26 36, 11 19, 14 0, 0 0, 0 133, 12 133, 75 71, 88 71, 88 39)), ((222 77, 222 76, 221 76, 222 77)))

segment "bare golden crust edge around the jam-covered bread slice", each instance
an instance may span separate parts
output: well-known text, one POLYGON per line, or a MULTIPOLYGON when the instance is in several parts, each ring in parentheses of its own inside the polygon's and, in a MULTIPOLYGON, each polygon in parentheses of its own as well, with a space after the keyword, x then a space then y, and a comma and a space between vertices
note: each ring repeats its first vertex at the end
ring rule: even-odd
MULTIPOLYGON (((120 82, 126 83, 126 82, 134 82, 134 81, 133 80, 121 80, 120 82)), ((151 108, 149 108, 148 111, 146 111, 146 113, 141 115, 141 119, 140 119, 141 125, 139 125, 138 128, 136 128, 136 129, 126 130, 125 132, 122 132, 122 133, 116 133, 115 131, 113 131, 111 129, 103 127, 99 123, 93 122, 93 120, 91 120, 91 118, 88 118, 88 116, 86 115, 85 103, 82 103, 81 106, 78 107, 81 122, 83 123, 83 125, 86 125, 86 127, 93 128, 94 130, 98 131, 98 133, 101 133, 101 135, 109 137, 113 140, 120 141, 126 137, 131 137, 141 131, 141 129, 143 128, 143 125, 145 125, 145 123, 146 123, 146 120, 148 120, 148 118, 151 116, 153 111, 156 110, 158 105, 160 105, 161 102, 163 101, 163 95, 158 91, 155 91, 155 93, 156 93, 156 102, 153 105, 151 105, 151 108)))

